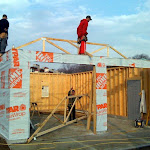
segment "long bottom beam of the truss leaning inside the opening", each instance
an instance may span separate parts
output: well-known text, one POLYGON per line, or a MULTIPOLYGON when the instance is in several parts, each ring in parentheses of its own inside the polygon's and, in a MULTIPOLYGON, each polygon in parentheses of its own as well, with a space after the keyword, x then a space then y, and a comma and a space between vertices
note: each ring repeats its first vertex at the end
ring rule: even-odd
POLYGON ((38 133, 38 134, 36 135, 36 137, 39 137, 39 136, 42 136, 42 135, 47 134, 47 133, 49 133, 49 132, 55 131, 55 130, 57 130, 57 129, 59 129, 59 128, 62 128, 62 127, 64 127, 64 126, 67 126, 67 125, 69 125, 69 124, 72 124, 72 123, 74 123, 74 122, 80 121, 80 120, 85 119, 85 118, 87 118, 87 116, 82 116, 82 117, 80 117, 80 118, 77 118, 77 119, 74 119, 74 120, 72 120, 72 121, 69 121, 69 122, 67 122, 66 124, 61 124, 61 125, 58 125, 58 126, 56 126, 56 127, 47 129, 47 130, 45 130, 45 131, 43 131, 43 132, 38 133))

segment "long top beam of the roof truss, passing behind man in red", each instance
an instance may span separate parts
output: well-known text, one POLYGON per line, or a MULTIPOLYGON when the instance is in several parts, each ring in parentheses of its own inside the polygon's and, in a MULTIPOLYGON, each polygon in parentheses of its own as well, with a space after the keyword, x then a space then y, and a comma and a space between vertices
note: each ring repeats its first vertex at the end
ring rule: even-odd
MULTIPOLYGON (((68 42, 68 40, 65 40, 65 39, 56 39, 56 38, 48 38, 48 37, 45 37, 47 40, 53 40, 53 41, 62 41, 62 42, 68 42)), ((75 40, 69 40, 71 41, 72 43, 77 43, 77 41, 75 40)), ((100 46, 107 46, 108 44, 101 44, 101 43, 92 43, 92 42, 86 42, 86 44, 90 44, 90 45, 100 45, 100 46)))

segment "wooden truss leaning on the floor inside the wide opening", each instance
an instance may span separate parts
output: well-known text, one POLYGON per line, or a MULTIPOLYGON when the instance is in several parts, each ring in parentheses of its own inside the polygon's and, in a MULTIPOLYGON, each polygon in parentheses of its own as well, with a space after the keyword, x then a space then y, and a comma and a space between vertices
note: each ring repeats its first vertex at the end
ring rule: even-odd
POLYGON ((60 103, 56 106, 56 108, 50 113, 50 115, 43 121, 43 123, 41 123, 41 124, 39 125, 38 129, 37 129, 37 130, 32 134, 32 136, 28 139, 27 143, 31 142, 31 140, 32 140, 34 137, 42 136, 42 135, 44 135, 44 134, 47 134, 47 133, 52 132, 52 131, 54 131, 54 130, 60 129, 60 128, 64 127, 64 126, 70 125, 70 124, 72 124, 72 123, 74 123, 74 122, 77 122, 77 121, 79 121, 79 120, 83 120, 83 119, 85 119, 85 118, 88 119, 88 120, 87 120, 87 129, 89 130, 89 128, 90 128, 90 120, 91 120, 91 116, 92 116, 92 114, 91 114, 91 108, 92 108, 92 97, 91 97, 91 95, 89 96, 88 94, 84 94, 84 95, 75 95, 75 96, 66 96, 66 97, 64 97, 64 98, 60 101, 60 103), (83 96, 88 96, 88 97, 90 98, 90 105, 89 105, 89 111, 88 111, 88 112, 85 112, 85 111, 83 110, 83 107, 82 107, 82 104, 81 104, 80 98, 82 99, 83 96), (75 98, 75 101, 74 101, 74 103, 73 103, 73 105, 72 105, 72 107, 71 107, 69 113, 67 114, 67 100, 68 100, 69 98, 75 98), (65 101, 64 120, 61 120, 59 117, 57 117, 57 116, 55 115, 55 112, 57 111, 58 107, 59 107, 64 101, 65 101), (76 118, 76 119, 74 119, 74 120, 72 120, 72 121, 68 121, 68 118, 69 118, 69 116, 71 115, 72 109, 73 109, 73 107, 75 106, 75 104, 77 103, 77 101, 79 101, 80 106, 81 106, 81 109, 82 109, 83 112, 84 112, 84 115, 81 116, 81 117, 79 117, 79 118, 76 118), (52 128, 50 128, 50 129, 47 129, 47 130, 45 130, 45 131, 40 132, 40 130, 45 126, 45 124, 48 122, 48 120, 49 120, 51 117, 55 117, 55 118, 61 123, 61 125, 58 125, 58 126, 56 126, 56 127, 52 127, 52 128))

